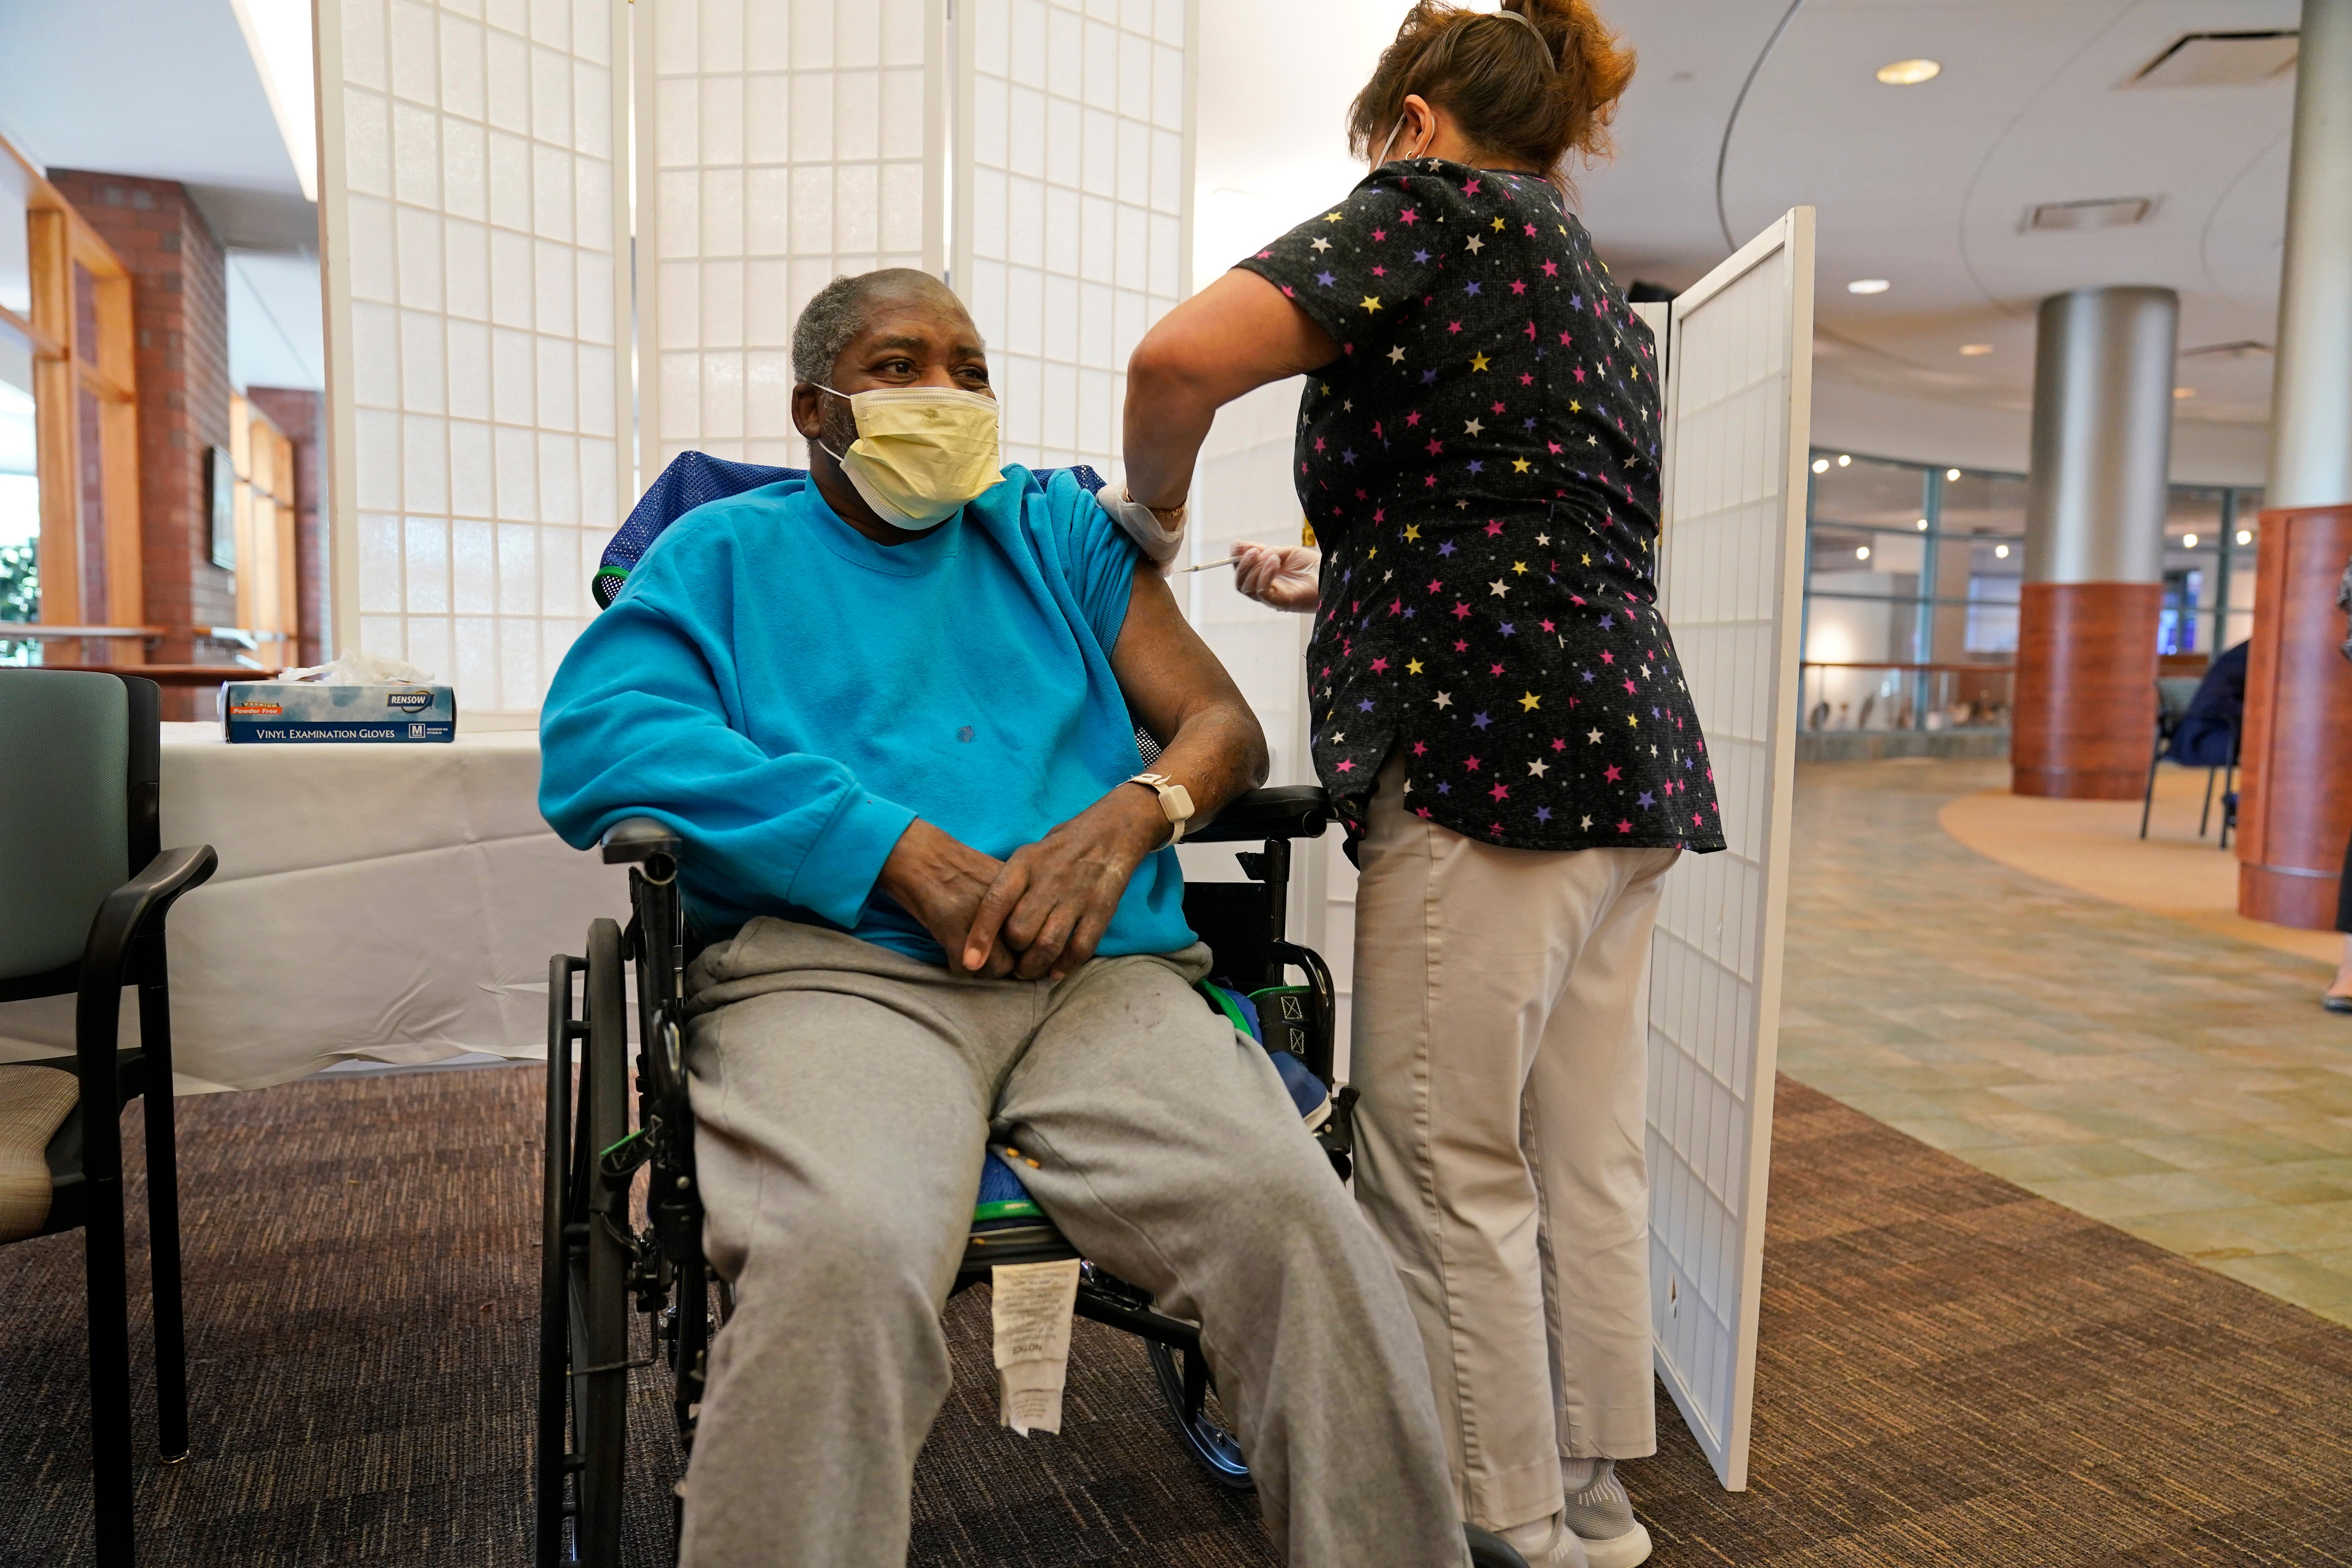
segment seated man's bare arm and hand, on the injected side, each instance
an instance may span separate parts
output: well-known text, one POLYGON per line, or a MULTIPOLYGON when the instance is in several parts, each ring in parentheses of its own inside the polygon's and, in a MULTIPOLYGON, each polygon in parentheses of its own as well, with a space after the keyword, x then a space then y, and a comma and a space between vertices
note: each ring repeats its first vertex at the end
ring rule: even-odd
MULTIPOLYGON (((1110 670, 1127 710, 1160 741, 1152 771, 1192 795, 1195 823, 1265 780, 1258 717, 1225 665, 1176 614, 1176 595, 1150 562, 1136 562, 1110 670)), ((1169 835, 1160 797, 1122 783, 1044 839, 1023 844, 971 917, 964 969, 993 969, 1016 952, 1023 980, 1063 978, 1094 957, 1129 877, 1169 835)))

